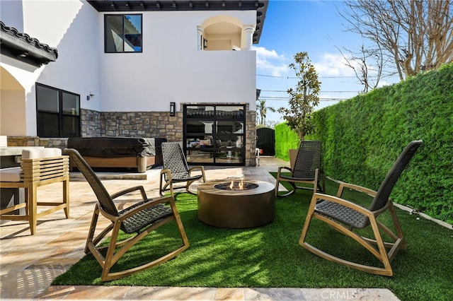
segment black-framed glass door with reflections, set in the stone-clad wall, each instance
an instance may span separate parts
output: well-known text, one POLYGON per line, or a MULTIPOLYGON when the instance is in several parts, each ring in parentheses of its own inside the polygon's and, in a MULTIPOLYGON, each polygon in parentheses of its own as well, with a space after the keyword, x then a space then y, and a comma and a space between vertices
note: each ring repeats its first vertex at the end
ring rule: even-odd
POLYGON ((244 105, 185 105, 184 148, 189 164, 244 165, 244 105))

